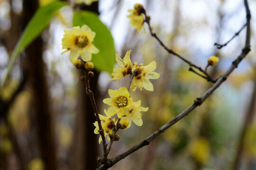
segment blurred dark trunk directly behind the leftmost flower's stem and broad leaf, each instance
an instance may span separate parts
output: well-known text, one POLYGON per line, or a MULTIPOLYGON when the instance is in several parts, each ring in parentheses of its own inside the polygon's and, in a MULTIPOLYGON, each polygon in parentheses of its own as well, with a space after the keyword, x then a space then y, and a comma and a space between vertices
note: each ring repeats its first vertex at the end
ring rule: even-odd
MULTIPOLYGON (((79 5, 82 10, 90 10, 99 14, 99 4, 94 2, 91 6, 79 5)), ((93 31, 93 30, 92 30, 93 31)), ((93 56, 92 56, 93 57, 93 56)), ((94 93, 96 104, 98 105, 99 91, 97 88, 99 72, 93 70, 94 77, 90 80, 91 91, 94 93)), ((80 76, 83 72, 80 72, 80 76)), ((97 135, 94 134, 94 125, 96 121, 94 111, 89 97, 85 93, 85 84, 78 80, 78 104, 77 115, 75 118, 74 137, 71 151, 70 170, 95 170, 100 166, 96 161, 98 155, 97 135)), ((103 151, 102 151, 103 152, 103 151)), ((101 152, 101 153, 102 153, 101 152)))

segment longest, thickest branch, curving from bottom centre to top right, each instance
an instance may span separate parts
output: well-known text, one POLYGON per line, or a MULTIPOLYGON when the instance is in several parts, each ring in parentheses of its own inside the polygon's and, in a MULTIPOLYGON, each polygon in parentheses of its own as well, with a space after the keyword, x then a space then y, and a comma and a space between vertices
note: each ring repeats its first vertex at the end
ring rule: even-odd
POLYGON ((222 76, 220 76, 216 81, 216 83, 213 84, 203 95, 201 95, 201 97, 197 98, 191 106, 189 106, 186 110, 184 110, 182 113, 176 116, 173 120, 169 121, 164 126, 160 127, 153 134, 146 137, 142 142, 134 145, 133 147, 128 149, 126 152, 121 153, 112 159, 109 159, 106 164, 103 164, 97 170, 107 170, 108 168, 116 164, 118 161, 127 157, 129 154, 134 153, 141 147, 150 144, 152 140, 154 140, 157 136, 163 133, 167 128, 173 126, 176 122, 178 122, 179 120, 187 116, 197 106, 200 106, 210 96, 210 94, 213 93, 219 87, 219 85, 221 85, 227 79, 227 77, 234 71, 234 69, 238 67, 238 64, 241 62, 241 60, 244 59, 249 53, 249 51, 251 50, 250 49, 250 10, 248 8, 247 0, 245 0, 245 7, 247 10, 247 35, 246 35, 245 47, 243 48, 241 54, 237 57, 237 59, 235 59, 232 62, 231 66, 227 69, 227 71, 222 76))

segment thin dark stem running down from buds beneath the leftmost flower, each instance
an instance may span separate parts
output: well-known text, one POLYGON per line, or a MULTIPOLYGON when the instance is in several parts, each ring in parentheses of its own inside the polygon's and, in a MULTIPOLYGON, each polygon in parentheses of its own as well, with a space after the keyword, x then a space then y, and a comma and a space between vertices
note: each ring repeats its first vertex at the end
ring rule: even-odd
POLYGON ((106 139, 105 139, 105 135, 104 135, 104 130, 101 126, 101 119, 99 116, 99 112, 97 109, 97 105, 94 99, 94 93, 90 90, 90 79, 89 79, 89 75, 88 75, 88 71, 86 71, 85 69, 83 69, 84 75, 86 77, 85 85, 86 85, 86 94, 89 96, 90 100, 91 100, 91 105, 93 107, 93 110, 95 112, 95 116, 96 116, 96 120, 98 122, 99 125, 99 133, 101 134, 101 138, 102 138, 102 147, 103 147, 103 160, 107 161, 108 159, 108 154, 107 154, 107 143, 106 143, 106 139))

